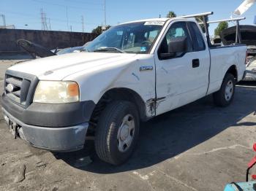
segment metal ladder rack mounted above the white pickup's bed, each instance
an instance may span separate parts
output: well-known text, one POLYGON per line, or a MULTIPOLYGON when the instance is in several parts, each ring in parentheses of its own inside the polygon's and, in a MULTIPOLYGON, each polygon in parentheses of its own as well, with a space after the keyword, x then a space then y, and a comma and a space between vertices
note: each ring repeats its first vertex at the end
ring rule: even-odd
POLYGON ((177 17, 177 18, 191 18, 191 17, 203 17, 203 22, 199 23, 199 24, 203 24, 203 26, 205 27, 206 30, 206 39, 208 42, 208 46, 212 46, 211 45, 211 39, 210 39, 210 35, 209 35, 209 29, 208 29, 208 24, 211 23, 220 23, 220 22, 231 22, 231 21, 236 21, 236 43, 241 43, 241 31, 240 31, 240 25, 239 25, 239 21, 240 20, 245 20, 246 17, 238 17, 238 18, 230 18, 230 19, 224 19, 224 20, 214 20, 214 21, 206 21, 206 17, 208 15, 213 15, 214 12, 204 12, 204 13, 199 13, 199 14, 195 14, 195 15, 184 15, 181 17, 177 17))

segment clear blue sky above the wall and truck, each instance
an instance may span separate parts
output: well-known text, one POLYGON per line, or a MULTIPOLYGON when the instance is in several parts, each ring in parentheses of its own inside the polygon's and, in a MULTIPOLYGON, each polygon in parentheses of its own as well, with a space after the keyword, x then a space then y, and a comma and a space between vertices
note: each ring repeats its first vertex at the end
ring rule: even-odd
MULTIPOLYGON (((190 15, 198 12, 213 11, 210 20, 229 18, 231 12, 244 0, 106 0, 107 24, 116 25, 130 20, 151 17, 165 17, 169 10, 177 15, 190 15)), ((85 31, 91 32, 104 22, 103 0, 2 0, 0 14, 6 17, 7 25, 16 28, 41 29, 40 9, 50 18, 52 30, 67 31, 67 15, 72 31, 82 31, 81 16, 84 17, 85 31), (27 26, 26 26, 27 25, 27 26)), ((256 4, 243 16, 242 24, 252 24, 256 15, 256 4)), ((0 19, 1 25, 1 19, 0 19)), ((230 23, 230 26, 233 24, 230 23)), ((216 24, 210 26, 212 34, 216 24)), ((70 29, 69 29, 70 30, 70 29)))

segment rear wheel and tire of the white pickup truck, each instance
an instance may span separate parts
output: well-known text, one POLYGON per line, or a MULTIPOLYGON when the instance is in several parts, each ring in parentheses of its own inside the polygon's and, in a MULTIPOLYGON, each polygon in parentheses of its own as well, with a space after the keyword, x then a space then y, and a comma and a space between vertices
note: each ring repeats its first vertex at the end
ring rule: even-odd
POLYGON ((217 106, 229 106, 233 101, 236 90, 236 81, 233 74, 227 73, 223 79, 220 90, 214 93, 214 104, 217 106))

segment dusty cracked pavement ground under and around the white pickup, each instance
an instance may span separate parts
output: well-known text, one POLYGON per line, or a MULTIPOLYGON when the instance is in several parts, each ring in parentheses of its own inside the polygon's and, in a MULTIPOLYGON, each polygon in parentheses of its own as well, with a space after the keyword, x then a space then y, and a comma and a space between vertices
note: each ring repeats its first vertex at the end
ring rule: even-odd
MULTIPOLYGON (((4 71, 16 61, 0 61, 4 71)), ((255 155, 256 84, 238 85, 233 104, 211 96, 142 124, 132 158, 121 166, 80 152, 53 154, 13 139, 0 114, 0 190, 223 190, 244 182, 255 155)))

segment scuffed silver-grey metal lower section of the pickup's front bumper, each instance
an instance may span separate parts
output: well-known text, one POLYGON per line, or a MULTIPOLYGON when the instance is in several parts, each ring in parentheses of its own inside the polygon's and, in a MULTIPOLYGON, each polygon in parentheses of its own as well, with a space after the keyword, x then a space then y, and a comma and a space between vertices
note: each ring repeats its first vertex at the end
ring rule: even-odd
POLYGON ((83 149, 86 141, 86 132, 89 127, 88 122, 64 128, 46 128, 27 125, 13 117, 4 108, 1 109, 9 128, 12 128, 11 124, 17 124, 18 136, 29 142, 33 147, 53 152, 71 152, 83 149))

